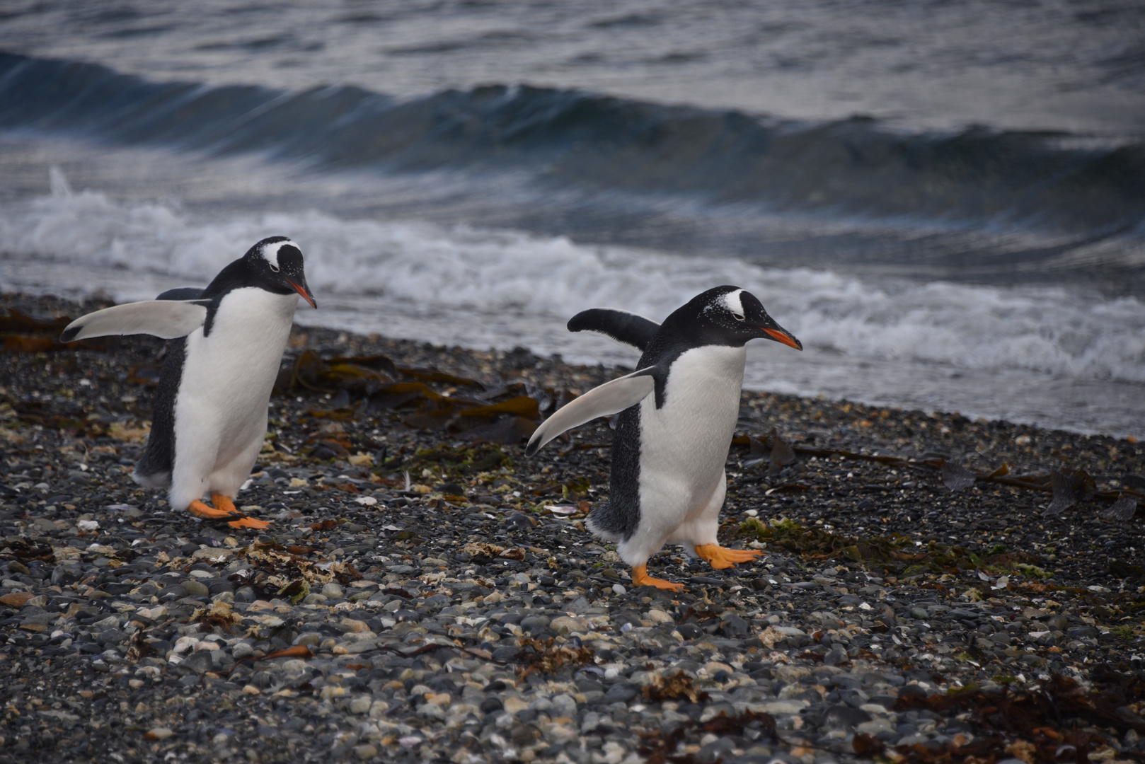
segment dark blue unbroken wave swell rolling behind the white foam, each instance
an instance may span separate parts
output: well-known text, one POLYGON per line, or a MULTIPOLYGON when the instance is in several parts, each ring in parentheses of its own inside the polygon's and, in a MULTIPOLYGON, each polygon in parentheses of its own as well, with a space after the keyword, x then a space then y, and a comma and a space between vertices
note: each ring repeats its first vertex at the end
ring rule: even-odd
POLYGON ((1145 144, 869 118, 779 120, 590 93, 490 85, 397 100, 356 87, 153 82, 0 54, 0 128, 124 145, 259 152, 316 171, 496 170, 771 210, 1022 226, 1143 238, 1145 144))

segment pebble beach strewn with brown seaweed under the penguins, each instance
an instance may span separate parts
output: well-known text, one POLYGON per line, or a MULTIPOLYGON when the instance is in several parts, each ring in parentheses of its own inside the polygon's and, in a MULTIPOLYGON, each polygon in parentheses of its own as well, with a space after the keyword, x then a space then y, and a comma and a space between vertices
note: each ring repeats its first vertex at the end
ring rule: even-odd
POLYGON ((1145 449, 745 393, 713 570, 584 529, 619 370, 295 328, 236 530, 129 478, 164 344, 0 298, 0 761, 1145 759, 1145 449), (62 322, 62 323, 61 323, 62 322), (1003 466, 1004 465, 1004 466, 1003 466))

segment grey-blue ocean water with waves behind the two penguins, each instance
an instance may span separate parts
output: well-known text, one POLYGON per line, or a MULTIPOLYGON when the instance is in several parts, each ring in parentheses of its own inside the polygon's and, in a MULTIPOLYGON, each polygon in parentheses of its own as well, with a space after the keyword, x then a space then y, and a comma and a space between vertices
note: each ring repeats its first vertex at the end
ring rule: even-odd
POLYGON ((732 283, 750 387, 1145 435, 1139 3, 184 5, 6 6, 0 289, 283 234, 302 322, 631 364, 567 318, 732 283))

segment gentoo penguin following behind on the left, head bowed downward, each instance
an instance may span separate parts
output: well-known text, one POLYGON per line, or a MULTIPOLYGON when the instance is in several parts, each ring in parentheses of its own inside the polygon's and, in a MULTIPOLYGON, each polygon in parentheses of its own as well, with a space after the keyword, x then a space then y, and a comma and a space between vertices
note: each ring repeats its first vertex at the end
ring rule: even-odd
POLYGON ((204 289, 89 313, 61 340, 105 334, 173 339, 159 376, 147 451, 132 476, 168 489, 171 505, 236 528, 269 523, 238 515, 234 498, 251 474, 267 432, 267 403, 294 320, 298 297, 318 306, 302 251, 285 236, 264 238, 204 289), (210 494, 214 506, 203 502, 210 494))

